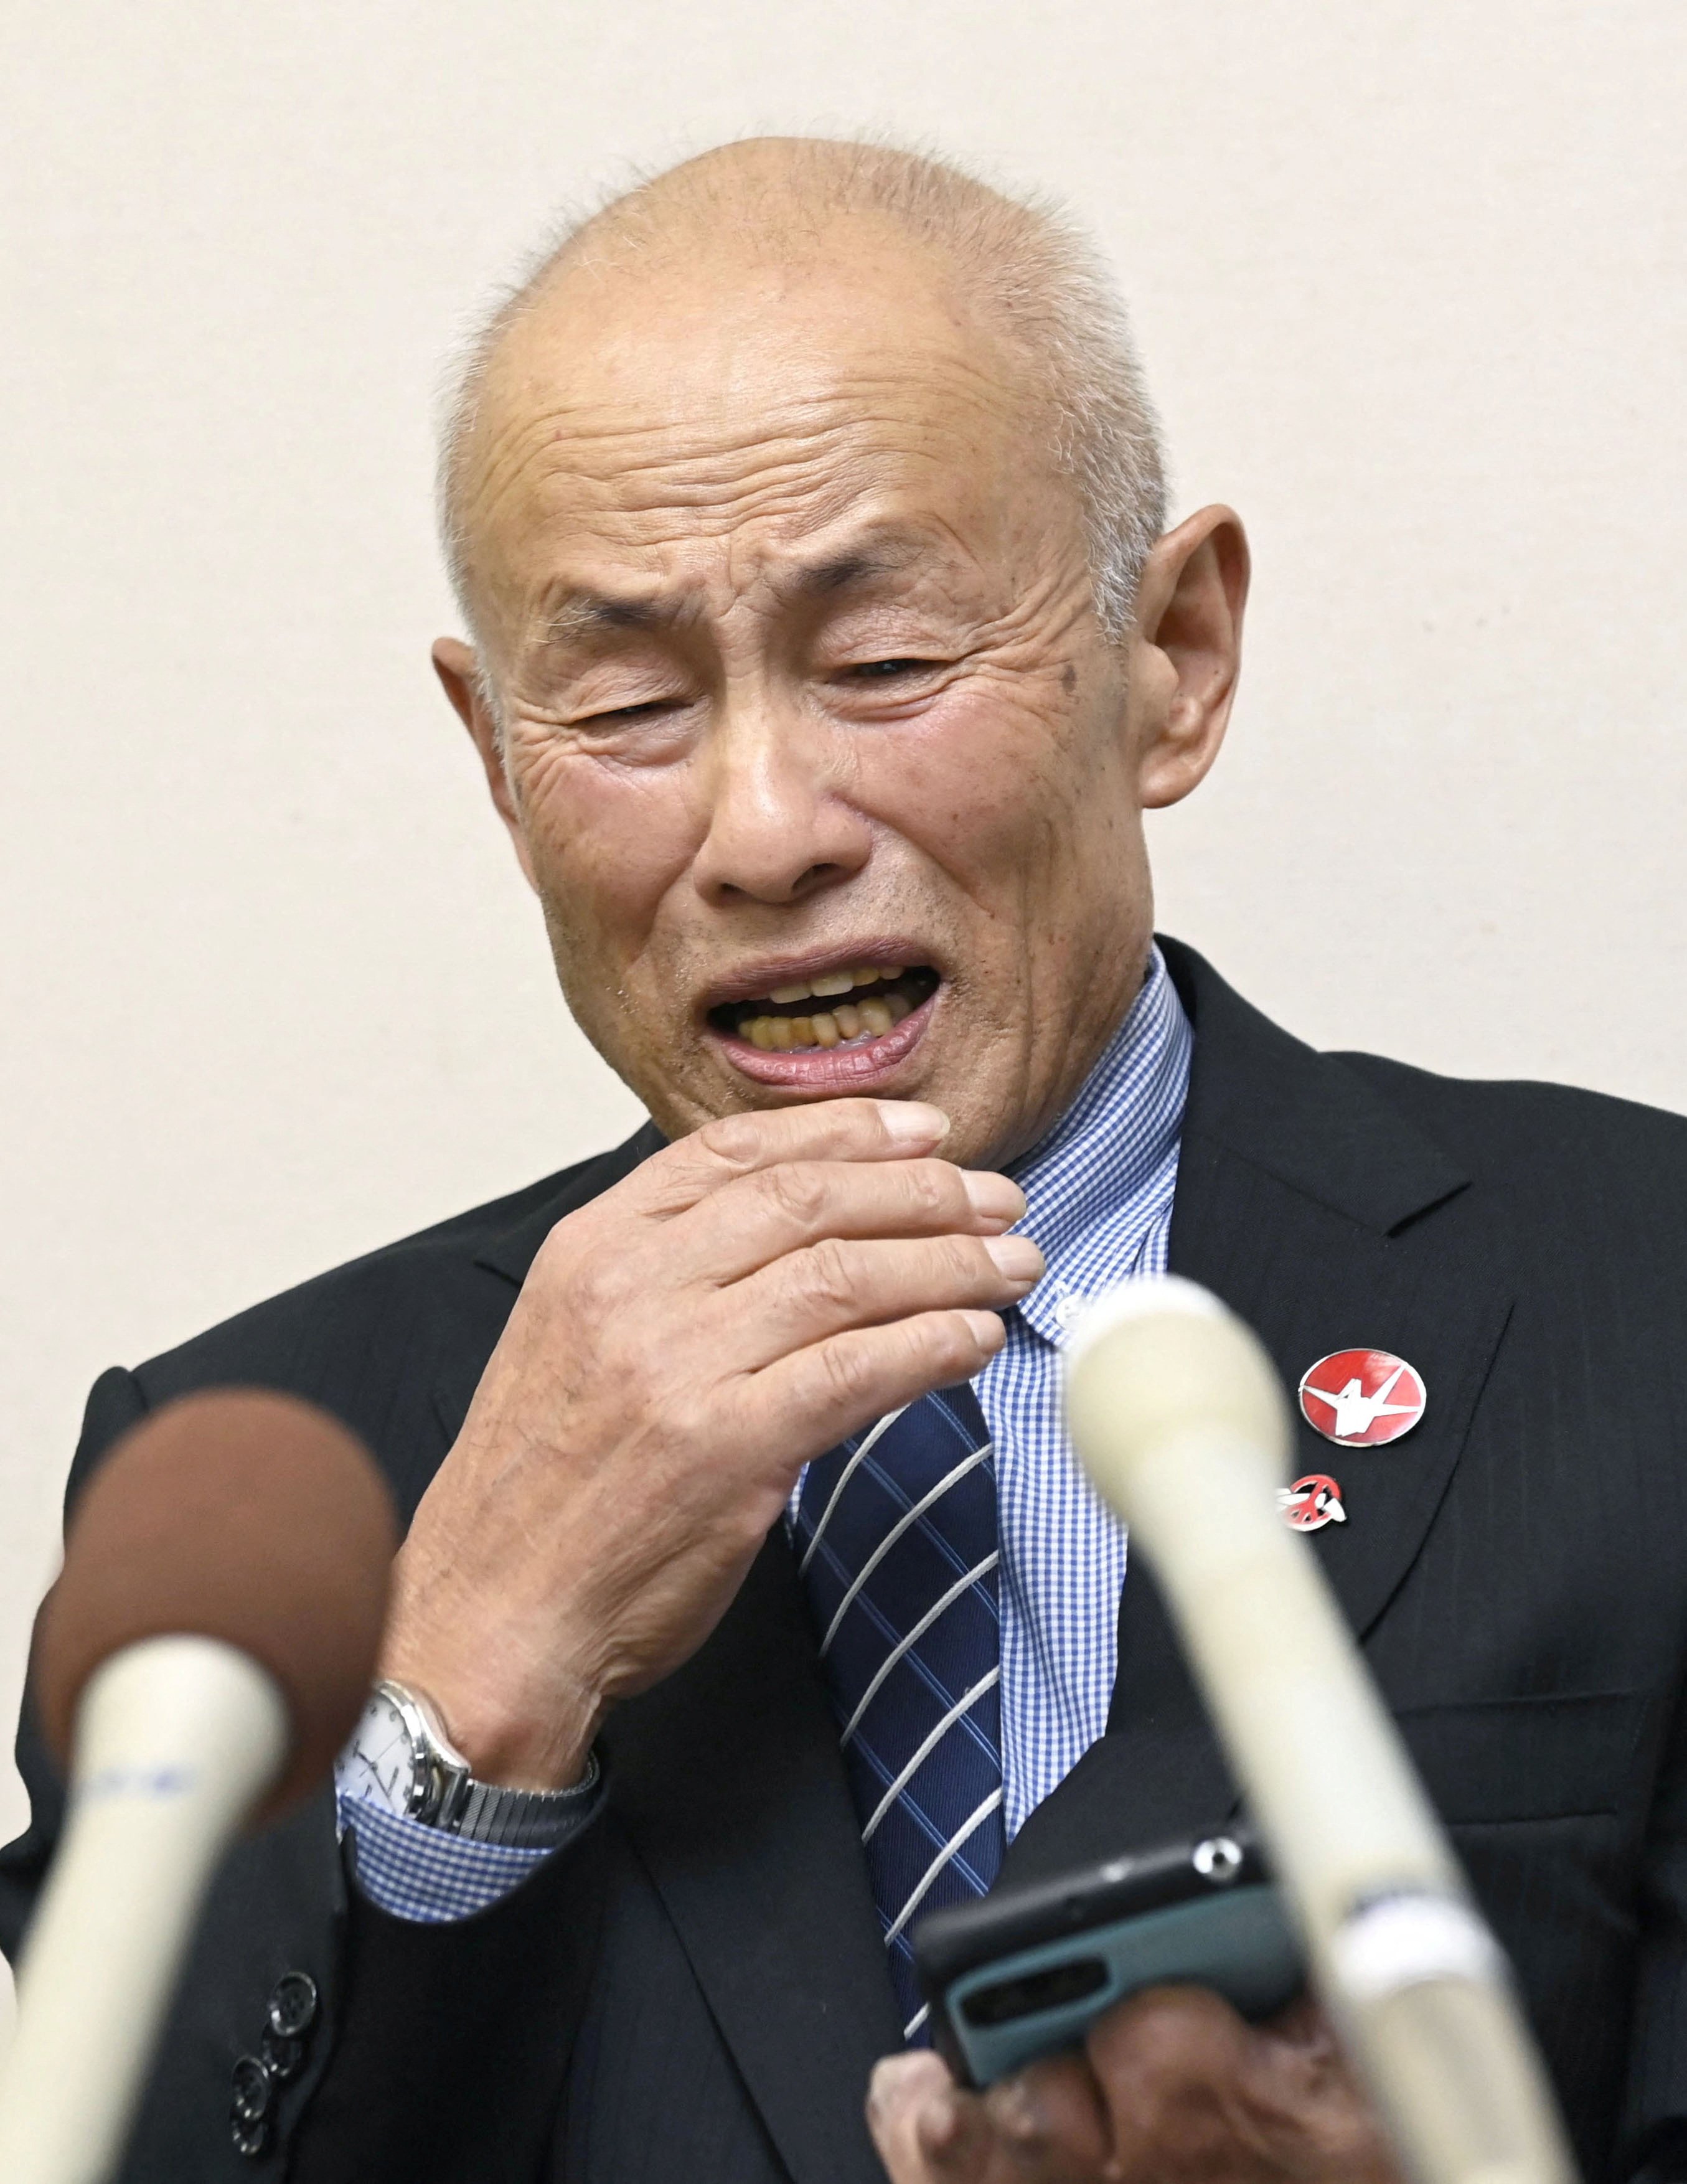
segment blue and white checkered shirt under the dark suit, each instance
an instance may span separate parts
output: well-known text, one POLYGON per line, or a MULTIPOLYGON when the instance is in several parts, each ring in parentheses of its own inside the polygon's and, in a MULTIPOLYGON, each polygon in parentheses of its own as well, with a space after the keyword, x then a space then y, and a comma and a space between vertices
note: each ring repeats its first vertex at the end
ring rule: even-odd
MULTIPOLYGON (((1008 1839, 1106 1728, 1126 1542, 1072 1457, 1061 1348, 1089 1297, 1165 1273, 1192 1051, 1154 948, 1130 1013, 1076 1101, 1013 1168, 1028 1208, 1019 1230, 1043 1247, 1048 1271, 1004 1315, 1008 1339, 973 1382, 995 1441, 1008 1839)), ((563 1824, 567 1837, 598 1804, 581 1802, 563 1824)), ((482 1911, 559 1848, 465 1843, 347 1791, 338 1806, 340 1830, 356 1835, 358 1887, 408 1920, 482 1911)))

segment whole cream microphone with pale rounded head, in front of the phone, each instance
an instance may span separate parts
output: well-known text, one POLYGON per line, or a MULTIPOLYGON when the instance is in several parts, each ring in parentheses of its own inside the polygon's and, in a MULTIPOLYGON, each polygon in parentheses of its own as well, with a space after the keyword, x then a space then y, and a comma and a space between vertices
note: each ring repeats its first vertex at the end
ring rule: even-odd
POLYGON ((1419 2184, 1574 2184, 1497 1942, 1305 1540, 1257 1337, 1194 1282, 1100 1297, 1067 1424, 1154 1566, 1296 1913, 1314 1983, 1419 2184))

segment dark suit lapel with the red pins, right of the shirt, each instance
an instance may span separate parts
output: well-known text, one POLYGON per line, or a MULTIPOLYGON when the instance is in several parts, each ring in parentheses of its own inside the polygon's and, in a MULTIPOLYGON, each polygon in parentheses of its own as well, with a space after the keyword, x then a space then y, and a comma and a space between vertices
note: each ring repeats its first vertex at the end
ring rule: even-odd
MULTIPOLYGON (((1196 1026, 1170 1269, 1261 1337, 1292 1396, 1336 1350, 1408 1358, 1427 1409, 1399 1441, 1338 1448, 1296 1411, 1294 1474, 1327 1472, 1347 1524, 1312 1546, 1360 1638, 1412 1568, 1510 1315, 1493 1208, 1462 1168, 1344 1061, 1242 1002, 1161 941, 1196 1026)), ((1133 1562, 1106 1736, 1026 1821, 1004 1874, 1028 1878, 1227 1817, 1235 1784, 1152 1570, 1133 1562)))

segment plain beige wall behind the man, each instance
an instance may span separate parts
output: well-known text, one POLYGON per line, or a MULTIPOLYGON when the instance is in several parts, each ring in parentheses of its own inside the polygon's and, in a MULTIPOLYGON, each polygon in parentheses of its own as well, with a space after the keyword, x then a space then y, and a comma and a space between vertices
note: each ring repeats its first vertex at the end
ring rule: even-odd
MULTIPOLYGON (((1320 1044, 1687 1107, 1680 0, 13 0, 0 1714, 89 1378, 611 1142, 428 640, 561 201, 877 127, 1069 197, 1257 587, 1163 922, 1320 1044)), ((22 1802, 0 1780, 0 1839, 22 1802)))

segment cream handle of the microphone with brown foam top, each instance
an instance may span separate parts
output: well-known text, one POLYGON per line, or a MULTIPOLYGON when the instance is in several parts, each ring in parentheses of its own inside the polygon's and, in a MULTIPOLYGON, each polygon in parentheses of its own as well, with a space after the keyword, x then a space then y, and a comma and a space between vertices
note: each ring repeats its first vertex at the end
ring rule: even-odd
POLYGON ((146 1638, 87 1679, 0 2068, 7 2184, 113 2175, 205 1891, 288 1745, 275 1679, 216 1638, 146 1638))

